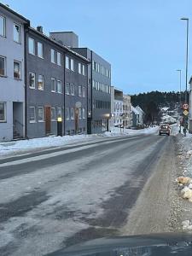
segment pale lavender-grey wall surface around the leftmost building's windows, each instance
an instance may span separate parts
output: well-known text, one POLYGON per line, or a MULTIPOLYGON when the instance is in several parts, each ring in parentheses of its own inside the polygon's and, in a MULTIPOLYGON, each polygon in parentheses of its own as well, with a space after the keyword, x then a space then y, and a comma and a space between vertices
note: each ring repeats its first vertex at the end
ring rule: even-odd
MULTIPOLYGON (((7 120, 0 123, 0 141, 13 139, 13 102, 23 103, 24 120, 25 73, 23 20, 0 7, 0 15, 6 18, 6 37, 0 36, 0 55, 6 57, 6 76, 0 77, 0 102, 7 104, 7 120), (21 26, 21 44, 14 41, 14 22, 21 26), (14 79, 14 60, 21 62, 21 79, 14 79)), ((25 125, 25 122, 23 122, 25 125)), ((23 126, 23 132, 25 127, 23 126)))

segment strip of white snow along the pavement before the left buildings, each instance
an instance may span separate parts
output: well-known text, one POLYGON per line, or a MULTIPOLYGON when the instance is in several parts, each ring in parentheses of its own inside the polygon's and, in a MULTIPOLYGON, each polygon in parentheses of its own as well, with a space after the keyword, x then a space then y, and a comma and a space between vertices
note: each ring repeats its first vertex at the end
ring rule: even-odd
POLYGON ((102 137, 119 137, 137 134, 150 134, 157 132, 158 127, 149 127, 142 130, 131 130, 131 129, 120 129, 114 127, 112 131, 106 131, 102 134, 82 134, 75 136, 64 136, 64 137, 41 137, 33 138, 29 140, 20 140, 16 142, 5 142, 0 143, 0 157, 8 154, 25 153, 33 149, 60 147, 67 144, 91 141, 96 138, 102 137))

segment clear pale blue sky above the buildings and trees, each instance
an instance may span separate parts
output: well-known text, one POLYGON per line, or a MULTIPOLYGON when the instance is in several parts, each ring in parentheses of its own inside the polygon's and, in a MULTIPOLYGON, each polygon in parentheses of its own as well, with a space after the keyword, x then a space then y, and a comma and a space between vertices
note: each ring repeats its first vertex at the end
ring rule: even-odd
MULTIPOLYGON (((3 0, 44 32, 73 31, 112 65, 112 84, 125 93, 185 87, 186 22, 191 0, 3 0)), ((189 23, 189 77, 192 75, 189 23)))

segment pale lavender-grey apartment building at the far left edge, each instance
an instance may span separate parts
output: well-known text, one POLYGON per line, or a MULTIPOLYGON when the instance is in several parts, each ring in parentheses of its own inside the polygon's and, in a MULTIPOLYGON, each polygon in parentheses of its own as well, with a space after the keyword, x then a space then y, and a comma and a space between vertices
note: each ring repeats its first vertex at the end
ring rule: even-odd
POLYGON ((0 141, 25 137, 25 32, 29 20, 0 3, 0 141))

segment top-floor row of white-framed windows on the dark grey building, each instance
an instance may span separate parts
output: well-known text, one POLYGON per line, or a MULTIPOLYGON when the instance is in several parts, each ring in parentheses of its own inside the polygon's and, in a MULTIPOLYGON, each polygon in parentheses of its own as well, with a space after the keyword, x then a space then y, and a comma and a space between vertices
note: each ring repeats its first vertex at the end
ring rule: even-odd
MULTIPOLYGON (((39 58, 44 58, 44 45, 40 42, 37 42, 36 50, 36 42, 33 38, 28 38, 28 51, 31 55, 38 55, 39 58)), ((61 53, 56 51, 55 49, 50 49, 50 61, 51 63, 61 66, 61 53)), ((75 71, 74 60, 72 58, 66 56, 65 64, 67 69, 75 71)), ((85 76, 85 66, 80 62, 78 63, 78 73, 85 76)))

